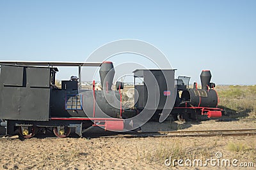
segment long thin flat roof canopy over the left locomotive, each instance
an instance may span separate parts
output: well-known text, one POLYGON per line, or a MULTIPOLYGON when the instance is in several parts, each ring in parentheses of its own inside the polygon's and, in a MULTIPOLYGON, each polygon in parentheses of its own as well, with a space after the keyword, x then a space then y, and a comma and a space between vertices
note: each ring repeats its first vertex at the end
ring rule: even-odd
POLYGON ((22 66, 101 66, 102 62, 61 62, 61 61, 15 61, 0 60, 0 64, 12 64, 22 66))

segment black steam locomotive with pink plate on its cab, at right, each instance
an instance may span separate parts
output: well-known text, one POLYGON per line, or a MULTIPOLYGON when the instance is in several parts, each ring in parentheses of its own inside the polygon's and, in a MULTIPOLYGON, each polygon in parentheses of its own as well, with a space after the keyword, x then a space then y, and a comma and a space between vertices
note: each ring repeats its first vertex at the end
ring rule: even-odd
POLYGON ((197 115, 207 115, 209 118, 221 117, 222 110, 217 108, 218 94, 214 90, 215 84, 210 83, 211 72, 209 70, 203 70, 201 73, 202 89, 197 88, 197 83, 195 83, 193 89, 189 89, 190 78, 179 76, 175 80, 174 72, 175 70, 172 69, 167 70, 167 77, 164 70, 159 69, 137 69, 134 71, 134 88, 138 92, 135 93, 134 103, 139 111, 152 109, 152 104, 148 104, 148 101, 150 101, 148 99, 150 98, 148 97, 148 87, 151 87, 151 89, 158 89, 157 92, 156 90, 154 92, 150 90, 150 93, 155 93, 154 99, 159 100, 158 105, 153 108, 156 110, 152 117, 153 120, 159 120, 166 109, 170 111, 170 115, 175 120, 179 119, 180 121, 196 119, 197 115), (136 85, 136 78, 141 78, 143 83, 136 85), (167 88, 168 85, 172 88, 167 88), (166 100, 167 98, 169 100, 166 100), (166 103, 170 104, 167 108, 166 103))

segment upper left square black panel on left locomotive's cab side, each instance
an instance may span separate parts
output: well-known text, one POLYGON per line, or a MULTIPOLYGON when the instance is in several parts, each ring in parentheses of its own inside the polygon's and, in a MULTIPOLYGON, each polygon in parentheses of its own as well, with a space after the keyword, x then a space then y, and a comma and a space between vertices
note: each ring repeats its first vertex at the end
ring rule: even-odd
POLYGON ((3 85, 19 86, 23 85, 24 67, 17 66, 1 66, 1 80, 3 85))

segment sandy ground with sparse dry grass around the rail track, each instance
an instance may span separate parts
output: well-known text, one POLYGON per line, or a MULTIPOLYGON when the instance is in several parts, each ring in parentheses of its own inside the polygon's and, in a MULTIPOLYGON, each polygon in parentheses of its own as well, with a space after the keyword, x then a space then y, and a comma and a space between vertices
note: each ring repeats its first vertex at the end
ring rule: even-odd
MULTIPOLYGON (((255 129, 256 120, 202 122, 149 122, 142 131, 196 129, 255 129), (153 128, 154 127, 154 128, 153 128)), ((1 133, 3 134, 1 129, 1 133)), ((0 169, 245 169, 244 167, 166 166, 173 159, 237 159, 256 167, 256 136, 211 138, 31 138, 0 139, 0 169)), ((220 159, 220 160, 221 160, 220 159)))

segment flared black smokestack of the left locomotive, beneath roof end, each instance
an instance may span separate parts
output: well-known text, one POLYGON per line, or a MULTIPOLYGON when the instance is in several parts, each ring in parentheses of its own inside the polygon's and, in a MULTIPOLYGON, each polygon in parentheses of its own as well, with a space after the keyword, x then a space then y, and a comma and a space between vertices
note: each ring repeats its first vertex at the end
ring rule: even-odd
POLYGON ((115 69, 112 62, 104 61, 100 66, 100 83, 103 90, 111 90, 115 69))

